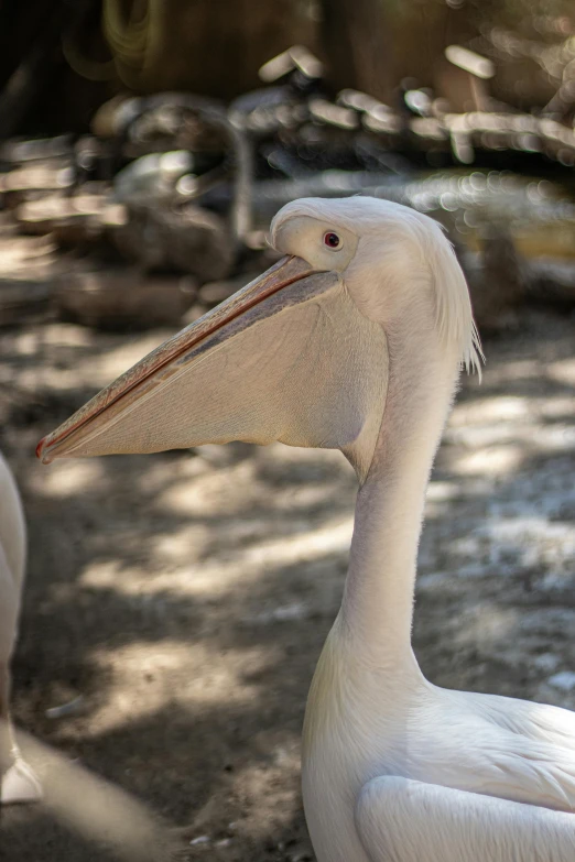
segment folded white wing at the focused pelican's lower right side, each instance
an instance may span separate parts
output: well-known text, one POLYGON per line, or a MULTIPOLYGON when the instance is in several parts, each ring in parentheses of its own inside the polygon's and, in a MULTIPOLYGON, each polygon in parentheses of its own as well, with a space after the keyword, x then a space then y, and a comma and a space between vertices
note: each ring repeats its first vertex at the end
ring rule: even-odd
POLYGON ((575 815, 386 776, 362 788, 370 862, 573 862, 575 815))

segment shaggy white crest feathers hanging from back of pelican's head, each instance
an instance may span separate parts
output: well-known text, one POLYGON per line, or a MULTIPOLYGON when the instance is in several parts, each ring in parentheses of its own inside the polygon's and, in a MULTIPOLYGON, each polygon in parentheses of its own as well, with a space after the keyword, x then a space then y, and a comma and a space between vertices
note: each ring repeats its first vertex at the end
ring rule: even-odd
POLYGON ((437 329, 445 345, 457 346, 465 370, 476 372, 480 381, 485 356, 474 320, 469 288, 453 244, 445 237, 443 227, 438 222, 434 225, 427 262, 435 288, 437 329))

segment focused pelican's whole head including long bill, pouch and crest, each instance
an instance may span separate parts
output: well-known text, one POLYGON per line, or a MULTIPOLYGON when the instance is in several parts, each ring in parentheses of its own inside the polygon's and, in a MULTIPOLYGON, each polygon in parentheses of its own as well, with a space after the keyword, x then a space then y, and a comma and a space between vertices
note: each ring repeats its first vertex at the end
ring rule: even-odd
POLYGON ((306 198, 278 212, 271 243, 279 263, 45 437, 43 462, 280 440, 341 449, 361 480, 393 332, 406 325, 455 367, 477 364, 467 286, 432 219, 375 198, 306 198))

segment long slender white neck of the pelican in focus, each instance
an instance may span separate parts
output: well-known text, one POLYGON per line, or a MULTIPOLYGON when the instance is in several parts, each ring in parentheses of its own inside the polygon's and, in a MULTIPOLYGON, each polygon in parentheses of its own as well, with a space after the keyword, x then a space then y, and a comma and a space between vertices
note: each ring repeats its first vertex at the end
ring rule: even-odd
POLYGON ((425 492, 458 377, 454 351, 410 321, 388 336, 381 428, 359 489, 340 622, 354 651, 378 666, 415 662, 411 647, 425 492))

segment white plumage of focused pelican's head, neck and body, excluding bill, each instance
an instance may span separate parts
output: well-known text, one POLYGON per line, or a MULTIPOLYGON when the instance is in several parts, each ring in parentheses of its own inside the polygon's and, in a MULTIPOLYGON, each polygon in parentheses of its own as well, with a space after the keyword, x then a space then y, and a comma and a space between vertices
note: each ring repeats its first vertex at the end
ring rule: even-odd
POLYGON ((341 610, 306 711, 304 806, 318 862, 568 862, 575 817, 552 809, 575 812, 574 716, 437 688, 411 650, 428 474, 456 365, 479 372, 484 358, 464 274, 440 225, 388 201, 295 201, 274 236, 323 265, 313 242, 326 226, 348 248, 357 239, 339 271, 386 331, 390 360, 341 610))

